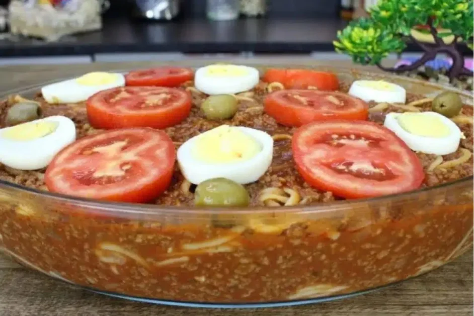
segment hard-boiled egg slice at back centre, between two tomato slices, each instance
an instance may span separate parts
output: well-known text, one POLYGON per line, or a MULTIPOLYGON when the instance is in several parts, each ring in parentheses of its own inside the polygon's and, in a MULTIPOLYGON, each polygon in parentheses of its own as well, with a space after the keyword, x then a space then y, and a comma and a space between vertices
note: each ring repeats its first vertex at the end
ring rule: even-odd
POLYGON ((194 86, 208 95, 234 94, 251 90, 260 81, 259 71, 240 65, 209 65, 194 74, 194 86))

